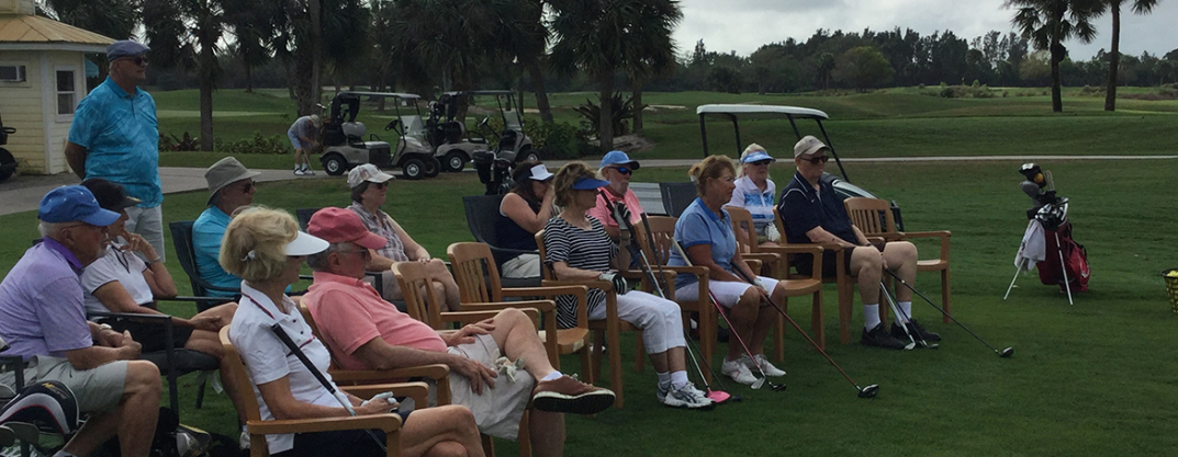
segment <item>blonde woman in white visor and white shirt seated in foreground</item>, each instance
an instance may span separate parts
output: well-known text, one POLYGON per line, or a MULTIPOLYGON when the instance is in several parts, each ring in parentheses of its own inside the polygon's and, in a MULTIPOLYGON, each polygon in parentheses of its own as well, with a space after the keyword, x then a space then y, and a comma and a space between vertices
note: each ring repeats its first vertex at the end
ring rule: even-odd
MULTIPOLYGON (((241 303, 230 324, 229 338, 245 364, 263 421, 349 415, 271 330, 277 323, 292 340, 303 342, 299 350, 331 382, 327 348, 283 293, 298 281, 306 256, 327 246, 326 241, 298 231, 298 223, 290 214, 266 208, 243 210, 225 231, 221 267, 243 278, 241 303)), ((348 399, 360 416, 385 414, 393 406, 380 397, 366 404, 351 395, 348 399)), ((402 456, 483 456, 475 417, 466 408, 418 409, 402 414, 402 456)), ((383 432, 375 432, 383 443, 383 432)), ((276 457, 385 455, 365 430, 267 435, 266 445, 276 457)))

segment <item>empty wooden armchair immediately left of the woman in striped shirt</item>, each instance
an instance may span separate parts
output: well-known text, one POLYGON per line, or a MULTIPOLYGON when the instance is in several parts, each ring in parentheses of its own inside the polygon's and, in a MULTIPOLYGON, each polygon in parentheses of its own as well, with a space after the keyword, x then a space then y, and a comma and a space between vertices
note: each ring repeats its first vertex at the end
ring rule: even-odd
MULTIPOLYGON (((495 257, 490 246, 477 242, 454 243, 446 248, 450 257, 450 266, 454 269, 455 280, 458 283, 458 291, 462 305, 469 304, 503 304, 525 305, 530 302, 504 302, 505 297, 545 297, 556 300, 561 295, 574 295, 577 297, 578 309, 588 307, 589 288, 584 285, 563 287, 523 287, 505 288, 499 277, 499 269, 495 264, 495 257)), ((585 382, 593 384, 593 369, 589 364, 589 323, 588 320, 578 320, 577 327, 560 329, 552 320, 544 316, 544 328, 540 330, 540 337, 544 345, 549 348, 549 361, 554 368, 561 369, 560 356, 565 354, 578 354, 581 356, 581 374, 585 382), (555 337, 554 337, 555 335, 555 337)))

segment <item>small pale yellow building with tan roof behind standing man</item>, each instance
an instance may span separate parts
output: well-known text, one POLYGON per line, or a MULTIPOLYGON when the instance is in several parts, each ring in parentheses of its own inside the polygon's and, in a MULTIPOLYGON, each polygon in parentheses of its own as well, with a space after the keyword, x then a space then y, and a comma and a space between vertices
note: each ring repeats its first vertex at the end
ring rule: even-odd
POLYGON ((16 133, 18 173, 68 172, 65 142, 86 96, 86 53, 113 39, 34 14, 33 0, 0 0, 0 120, 16 133))

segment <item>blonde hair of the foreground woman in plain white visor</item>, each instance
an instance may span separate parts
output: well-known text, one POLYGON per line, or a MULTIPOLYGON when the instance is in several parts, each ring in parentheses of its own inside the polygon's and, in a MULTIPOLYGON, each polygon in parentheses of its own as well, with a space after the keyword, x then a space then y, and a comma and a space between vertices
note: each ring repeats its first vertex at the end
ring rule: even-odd
POLYGON ((294 217, 265 207, 234 213, 221 238, 221 268, 254 283, 282 275, 286 269, 286 244, 298 236, 294 217))

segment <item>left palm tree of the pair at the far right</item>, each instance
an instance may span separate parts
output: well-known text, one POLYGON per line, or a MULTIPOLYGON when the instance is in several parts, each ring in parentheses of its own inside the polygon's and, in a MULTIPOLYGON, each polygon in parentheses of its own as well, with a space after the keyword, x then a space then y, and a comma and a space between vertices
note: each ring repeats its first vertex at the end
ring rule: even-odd
POLYGON ((1017 8, 1014 25, 1023 38, 1038 49, 1051 52, 1051 110, 1064 110, 1060 94, 1059 62, 1067 56, 1064 41, 1073 38, 1092 42, 1097 31, 1091 18, 1100 13, 1099 0, 1007 0, 1004 7, 1017 8))

